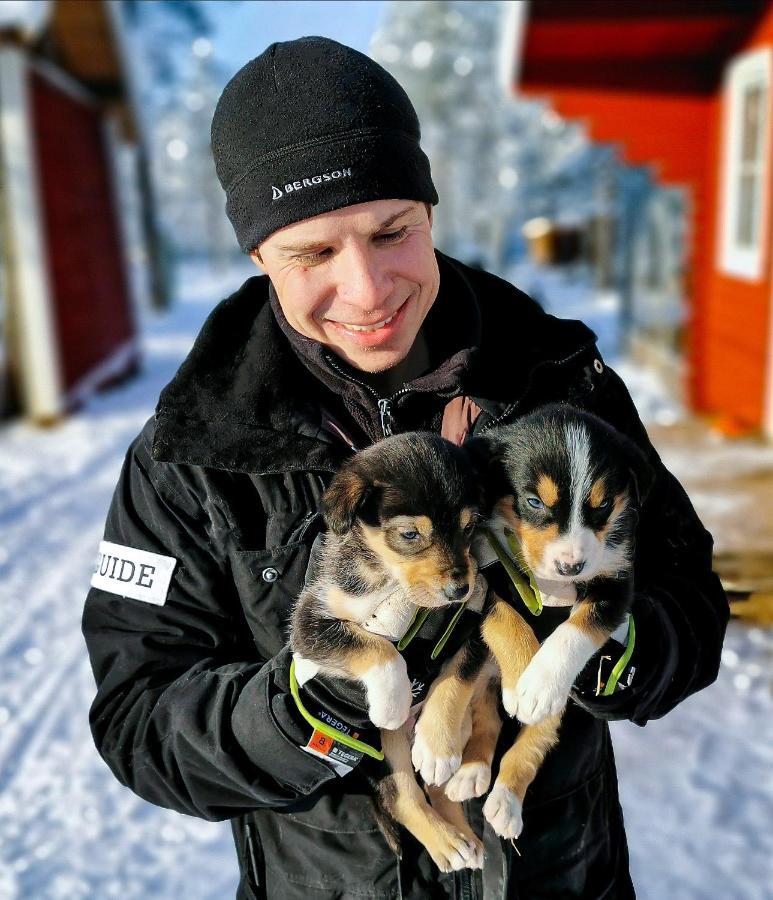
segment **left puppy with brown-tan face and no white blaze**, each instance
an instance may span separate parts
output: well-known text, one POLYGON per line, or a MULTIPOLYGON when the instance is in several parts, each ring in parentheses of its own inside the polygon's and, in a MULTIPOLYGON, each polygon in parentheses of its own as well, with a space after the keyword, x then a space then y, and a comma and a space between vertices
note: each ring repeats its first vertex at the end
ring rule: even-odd
MULTIPOLYGON (((316 571, 291 622, 290 646, 313 672, 358 681, 381 729, 384 763, 368 773, 384 817, 405 826, 443 871, 482 865, 482 845, 461 812, 419 787, 406 725, 411 683, 396 646, 366 626, 385 605, 405 614, 469 600, 477 564, 470 552, 480 488, 465 451, 432 434, 396 435, 353 457, 322 500, 328 531, 316 571)), ((479 595, 480 590, 476 591, 479 595)), ((482 603, 482 598, 481 598, 482 603)), ((404 628, 398 628, 399 637, 404 628)), ((394 827, 382 827, 396 846, 394 827)))

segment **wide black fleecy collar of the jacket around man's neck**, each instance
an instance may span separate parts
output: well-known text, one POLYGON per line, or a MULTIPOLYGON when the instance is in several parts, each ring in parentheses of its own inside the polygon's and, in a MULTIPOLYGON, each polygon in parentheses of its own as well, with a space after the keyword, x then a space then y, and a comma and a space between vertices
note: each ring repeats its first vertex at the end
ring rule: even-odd
MULTIPOLYGON (((593 345, 581 322, 556 319, 500 278, 437 257, 440 292, 425 326, 442 361, 412 390, 465 394, 495 416, 523 393, 535 367, 593 345)), ((321 345, 305 352, 291 345, 270 287, 265 275, 250 278, 212 311, 161 392, 155 459, 260 473, 340 467, 349 449, 320 412, 335 390, 332 370, 321 345), (312 375, 315 366, 325 377, 312 375)))

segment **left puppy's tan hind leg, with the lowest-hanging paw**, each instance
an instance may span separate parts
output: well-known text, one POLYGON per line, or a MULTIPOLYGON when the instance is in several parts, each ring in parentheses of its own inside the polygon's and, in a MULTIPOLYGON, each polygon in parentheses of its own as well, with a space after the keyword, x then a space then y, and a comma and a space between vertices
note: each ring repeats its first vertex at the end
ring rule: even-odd
POLYGON ((466 821, 458 816, 447 821, 434 810, 419 787, 411 765, 410 735, 407 726, 381 732, 381 747, 390 769, 377 786, 381 808, 427 848, 442 872, 479 869, 483 865, 483 845, 466 821))

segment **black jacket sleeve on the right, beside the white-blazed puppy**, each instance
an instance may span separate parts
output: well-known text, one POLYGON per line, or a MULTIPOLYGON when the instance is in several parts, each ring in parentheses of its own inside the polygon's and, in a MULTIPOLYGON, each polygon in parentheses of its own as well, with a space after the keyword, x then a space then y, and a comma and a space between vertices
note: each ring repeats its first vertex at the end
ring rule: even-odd
POLYGON ((711 535, 652 446, 621 378, 606 369, 582 405, 631 438, 654 471, 636 534, 629 688, 574 699, 595 716, 657 719, 717 677, 729 606, 712 571, 711 535))

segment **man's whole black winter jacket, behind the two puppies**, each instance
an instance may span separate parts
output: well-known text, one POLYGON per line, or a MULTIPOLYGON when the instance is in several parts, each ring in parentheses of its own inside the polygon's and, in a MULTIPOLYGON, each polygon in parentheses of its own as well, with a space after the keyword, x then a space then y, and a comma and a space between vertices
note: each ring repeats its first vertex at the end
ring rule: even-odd
MULTIPOLYGON (((242 897, 631 897, 603 720, 643 725, 717 673, 728 608, 711 572, 711 538, 592 332, 546 315, 490 274, 438 260, 440 294, 425 322, 438 368, 392 398, 392 428, 438 430, 459 395, 482 409, 476 433, 569 401, 639 444, 656 480, 638 531, 636 680, 609 698, 577 698, 586 708, 569 703, 560 743, 526 798, 520 856, 483 831, 477 802, 468 815, 484 834, 482 876, 439 875, 409 836, 402 859, 390 852, 358 771, 340 778, 293 739, 280 653, 309 525, 351 452, 325 417, 364 445, 379 437, 378 398, 342 369, 325 368, 334 361, 319 345, 291 344, 267 279, 250 279, 213 311, 129 449, 105 530, 102 587, 91 589, 83 618, 100 753, 152 803, 232 819, 242 897), (153 556, 139 560, 137 550, 153 556), (141 585, 153 577, 148 566, 173 560, 165 595, 133 599, 105 581, 123 580, 124 570, 128 578, 128 566, 110 563, 122 553, 141 585)), ((501 746, 516 727, 508 723, 501 746)))

